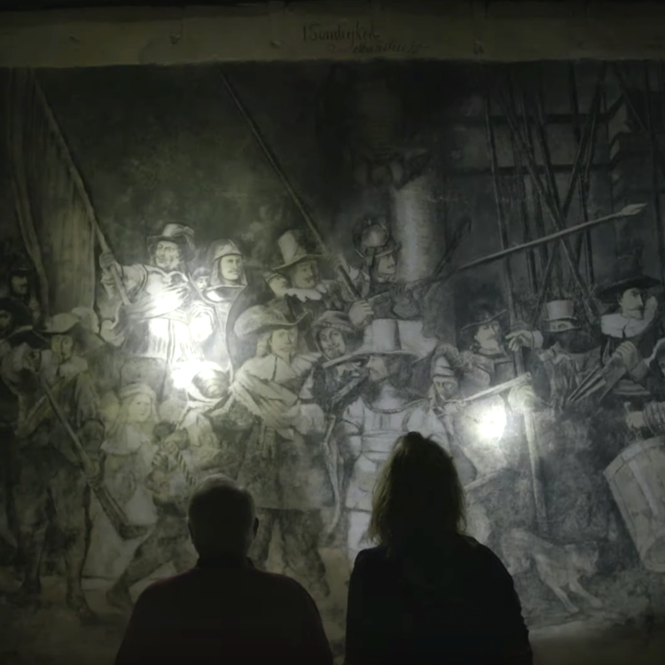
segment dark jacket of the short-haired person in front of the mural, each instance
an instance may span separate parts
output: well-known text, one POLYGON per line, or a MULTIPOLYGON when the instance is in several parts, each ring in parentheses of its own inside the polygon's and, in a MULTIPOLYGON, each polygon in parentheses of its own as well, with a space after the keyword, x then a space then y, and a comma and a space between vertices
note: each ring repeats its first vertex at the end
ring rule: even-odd
POLYGON ((115 665, 332 665, 309 593, 246 559, 200 560, 137 600, 115 665))

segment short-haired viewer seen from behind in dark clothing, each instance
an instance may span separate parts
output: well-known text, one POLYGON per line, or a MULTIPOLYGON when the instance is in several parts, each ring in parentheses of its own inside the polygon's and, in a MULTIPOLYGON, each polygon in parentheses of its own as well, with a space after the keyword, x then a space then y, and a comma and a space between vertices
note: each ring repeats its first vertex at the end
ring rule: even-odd
POLYGON ((249 493, 209 476, 194 489, 188 515, 199 561, 141 594, 116 665, 332 665, 308 592, 247 559, 259 526, 249 493))

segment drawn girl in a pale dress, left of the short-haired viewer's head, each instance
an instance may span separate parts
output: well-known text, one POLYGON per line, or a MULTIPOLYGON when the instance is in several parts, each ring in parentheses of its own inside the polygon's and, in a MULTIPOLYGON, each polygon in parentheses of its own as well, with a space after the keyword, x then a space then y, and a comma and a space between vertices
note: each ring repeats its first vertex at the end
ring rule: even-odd
POLYGON ((154 457, 153 427, 157 398, 151 387, 131 383, 119 393, 120 409, 102 444, 104 481, 130 524, 150 526, 157 520, 151 493, 145 488, 154 457))

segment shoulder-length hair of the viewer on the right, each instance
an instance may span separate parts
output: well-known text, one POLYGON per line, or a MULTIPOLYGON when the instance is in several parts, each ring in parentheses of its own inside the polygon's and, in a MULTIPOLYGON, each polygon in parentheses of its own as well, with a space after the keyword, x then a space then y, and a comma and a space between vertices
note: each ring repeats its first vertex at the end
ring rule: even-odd
POLYGON ((464 528, 464 489, 452 458, 432 439, 404 434, 379 472, 367 535, 389 550, 415 553, 464 528))

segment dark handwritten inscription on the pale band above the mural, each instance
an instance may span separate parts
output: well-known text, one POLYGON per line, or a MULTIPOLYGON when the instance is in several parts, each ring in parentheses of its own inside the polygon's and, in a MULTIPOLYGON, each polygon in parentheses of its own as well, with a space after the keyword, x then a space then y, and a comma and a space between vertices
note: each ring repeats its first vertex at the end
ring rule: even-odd
POLYGON ((302 26, 302 41, 325 43, 329 51, 351 52, 364 55, 398 54, 416 56, 426 48, 417 40, 404 42, 381 35, 373 23, 356 21, 354 25, 325 26, 322 23, 307 23, 302 26))

